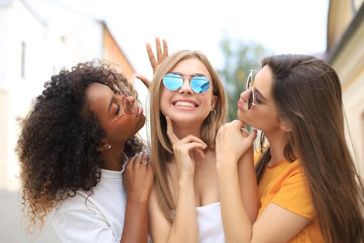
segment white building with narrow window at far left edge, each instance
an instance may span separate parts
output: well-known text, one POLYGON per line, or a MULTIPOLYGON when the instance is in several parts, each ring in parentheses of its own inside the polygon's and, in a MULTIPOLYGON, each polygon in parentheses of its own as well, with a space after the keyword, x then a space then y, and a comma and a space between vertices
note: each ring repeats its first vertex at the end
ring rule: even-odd
MULTIPOLYGON (((47 51, 42 22, 21 1, 0 4, 0 190, 18 190, 19 167, 15 155, 18 126, 28 104, 41 87, 44 70, 37 67, 47 51), (37 33, 37 34, 35 34, 37 33), (22 47, 24 45, 24 53, 22 47), (23 58, 24 57, 24 58, 23 58)), ((47 75, 48 76, 48 75, 47 75)))

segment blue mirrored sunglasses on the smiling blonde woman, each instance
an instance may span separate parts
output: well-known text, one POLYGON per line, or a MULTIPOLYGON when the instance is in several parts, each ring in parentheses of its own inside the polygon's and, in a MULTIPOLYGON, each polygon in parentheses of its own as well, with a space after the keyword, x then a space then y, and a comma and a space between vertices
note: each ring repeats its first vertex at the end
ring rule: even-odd
MULTIPOLYGON (((195 75, 192 76, 192 78, 189 78, 190 82, 189 85, 191 86, 191 90, 197 94, 203 94, 209 90, 210 87, 210 81, 209 78, 206 78, 205 76, 201 75, 195 75)), ((163 79, 163 85, 168 90, 180 90, 180 88, 183 85, 184 78, 181 74, 166 74, 164 75, 163 79)))

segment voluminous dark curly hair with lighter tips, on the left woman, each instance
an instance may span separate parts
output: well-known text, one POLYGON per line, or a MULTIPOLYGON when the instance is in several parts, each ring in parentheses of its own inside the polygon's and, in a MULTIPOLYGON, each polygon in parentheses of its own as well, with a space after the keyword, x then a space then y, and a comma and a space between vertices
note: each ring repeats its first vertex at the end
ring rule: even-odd
MULTIPOLYGON (((107 85, 115 93, 123 90, 137 100, 132 85, 110 65, 85 62, 52 76, 26 118, 18 119, 21 134, 15 151, 29 232, 36 225, 42 228, 60 201, 80 189, 92 193, 100 181, 103 160, 97 149, 105 132, 87 104, 90 83, 107 85)), ((134 156, 143 149, 142 140, 135 135, 125 143, 124 152, 134 156)))

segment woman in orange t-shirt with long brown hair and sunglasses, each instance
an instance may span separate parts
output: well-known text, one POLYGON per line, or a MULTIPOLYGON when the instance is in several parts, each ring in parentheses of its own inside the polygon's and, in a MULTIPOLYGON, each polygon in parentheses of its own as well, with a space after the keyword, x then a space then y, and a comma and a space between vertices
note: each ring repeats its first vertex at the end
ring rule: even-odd
MULTIPOLYGON (((363 242, 364 189, 344 133, 340 81, 313 56, 264 58, 250 71, 239 121, 220 128, 216 165, 227 242, 363 242), (257 75, 255 76, 254 74, 257 75), (268 139, 256 162, 257 221, 241 200, 237 165, 253 161, 244 124, 268 139)), ((257 156, 258 157, 258 156, 257 156)))

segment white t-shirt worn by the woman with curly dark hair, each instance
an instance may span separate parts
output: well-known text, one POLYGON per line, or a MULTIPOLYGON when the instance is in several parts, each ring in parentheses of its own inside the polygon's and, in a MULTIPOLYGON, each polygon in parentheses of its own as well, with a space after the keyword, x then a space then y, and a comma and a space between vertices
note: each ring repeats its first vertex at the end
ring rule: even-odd
POLYGON ((101 169, 94 194, 78 190, 53 210, 53 227, 62 242, 117 242, 123 233, 126 192, 121 171, 101 169))

